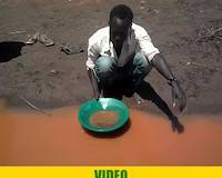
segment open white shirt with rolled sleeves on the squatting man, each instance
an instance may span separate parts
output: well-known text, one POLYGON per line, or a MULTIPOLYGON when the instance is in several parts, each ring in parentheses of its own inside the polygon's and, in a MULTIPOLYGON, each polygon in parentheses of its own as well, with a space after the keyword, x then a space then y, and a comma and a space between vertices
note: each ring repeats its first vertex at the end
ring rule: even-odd
MULTIPOLYGON (((153 46, 150 36, 143 27, 132 23, 132 29, 134 30, 139 51, 143 52, 148 60, 151 61, 157 53, 160 53, 159 49, 153 46)), ((94 68, 94 62, 100 56, 118 59, 113 43, 110 41, 110 27, 102 28, 90 37, 88 42, 88 60, 85 62, 88 70, 94 68)))

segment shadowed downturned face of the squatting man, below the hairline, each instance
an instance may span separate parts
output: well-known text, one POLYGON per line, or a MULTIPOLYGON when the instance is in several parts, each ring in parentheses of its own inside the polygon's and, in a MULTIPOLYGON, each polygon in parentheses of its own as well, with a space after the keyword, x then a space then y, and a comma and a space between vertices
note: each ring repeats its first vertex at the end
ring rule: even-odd
POLYGON ((115 48, 121 48, 128 37, 129 22, 119 18, 113 18, 110 22, 110 39, 115 48))

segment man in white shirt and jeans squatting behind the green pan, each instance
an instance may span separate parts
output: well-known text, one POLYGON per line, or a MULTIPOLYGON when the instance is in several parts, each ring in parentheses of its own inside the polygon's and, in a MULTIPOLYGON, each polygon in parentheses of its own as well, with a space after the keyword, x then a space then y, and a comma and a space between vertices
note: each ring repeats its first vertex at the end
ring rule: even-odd
POLYGON ((85 65, 94 98, 107 96, 107 91, 117 88, 127 97, 138 96, 138 87, 154 67, 172 87, 173 105, 178 103, 182 111, 186 101, 178 79, 144 28, 132 19, 129 7, 115 6, 110 12, 109 27, 89 39, 85 65))

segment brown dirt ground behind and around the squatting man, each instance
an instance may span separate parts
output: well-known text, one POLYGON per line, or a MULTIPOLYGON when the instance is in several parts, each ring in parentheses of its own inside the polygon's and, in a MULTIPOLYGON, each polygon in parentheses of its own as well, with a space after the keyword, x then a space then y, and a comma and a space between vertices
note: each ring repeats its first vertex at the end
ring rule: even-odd
MULTIPOLYGON (((0 96, 16 108, 28 108, 19 98, 23 96, 42 109, 78 106, 90 99, 92 90, 84 66, 87 41, 107 26, 111 7, 120 2, 133 9, 134 22, 149 31, 179 77, 188 97, 184 113, 221 113, 221 33, 209 37, 222 28, 221 0, 0 0, 0 47, 7 41, 24 42, 37 31, 56 42, 52 47, 20 46, 21 55, 8 61, 1 58, 0 96), (68 56, 60 51, 62 43, 82 46, 84 52, 68 56)), ((1 48, 0 52, 3 50, 11 49, 1 48)), ((145 80, 171 107, 165 80, 155 70, 145 80)), ((133 99, 125 101, 132 108, 160 113, 151 101, 143 106, 133 99)))

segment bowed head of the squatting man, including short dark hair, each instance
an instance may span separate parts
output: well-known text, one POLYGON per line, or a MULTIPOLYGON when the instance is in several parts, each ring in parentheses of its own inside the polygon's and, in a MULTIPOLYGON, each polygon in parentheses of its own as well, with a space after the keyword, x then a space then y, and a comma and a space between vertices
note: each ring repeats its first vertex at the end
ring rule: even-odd
POLYGON ((115 47, 121 47, 132 26, 133 12, 125 4, 118 4, 110 11, 110 39, 115 47))

